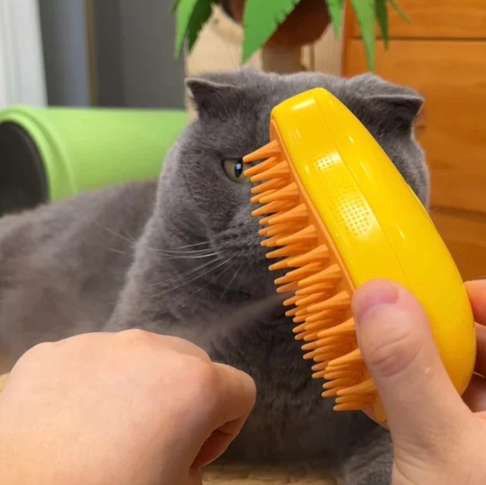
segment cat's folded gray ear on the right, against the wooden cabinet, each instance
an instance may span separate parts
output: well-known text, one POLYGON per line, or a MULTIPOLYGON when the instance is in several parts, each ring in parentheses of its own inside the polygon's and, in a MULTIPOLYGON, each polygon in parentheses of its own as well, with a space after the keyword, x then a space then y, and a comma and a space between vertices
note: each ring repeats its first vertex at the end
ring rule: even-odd
POLYGON ((382 80, 374 74, 361 74, 349 80, 356 95, 376 115, 396 128, 410 130, 424 98, 414 89, 382 80))

